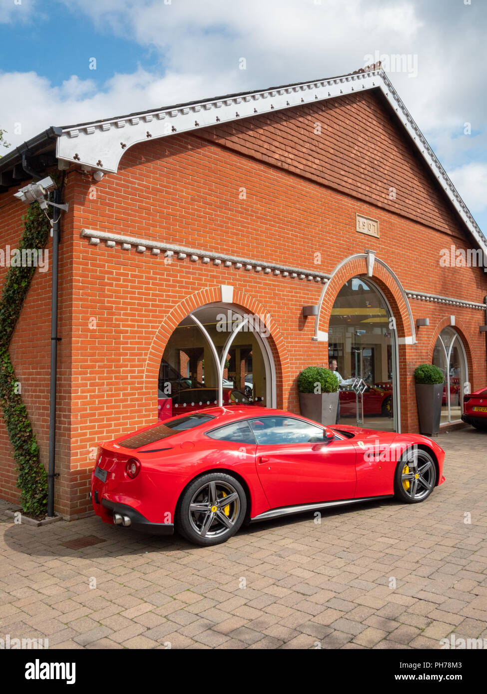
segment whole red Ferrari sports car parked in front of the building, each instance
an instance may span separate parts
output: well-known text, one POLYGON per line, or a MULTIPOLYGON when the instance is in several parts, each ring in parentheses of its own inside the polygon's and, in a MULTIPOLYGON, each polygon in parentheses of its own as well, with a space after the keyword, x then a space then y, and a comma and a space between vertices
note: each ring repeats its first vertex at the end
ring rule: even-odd
POLYGON ((94 511, 215 545, 242 523, 396 496, 426 499, 445 452, 419 434, 323 427, 280 409, 211 407, 101 443, 94 511))

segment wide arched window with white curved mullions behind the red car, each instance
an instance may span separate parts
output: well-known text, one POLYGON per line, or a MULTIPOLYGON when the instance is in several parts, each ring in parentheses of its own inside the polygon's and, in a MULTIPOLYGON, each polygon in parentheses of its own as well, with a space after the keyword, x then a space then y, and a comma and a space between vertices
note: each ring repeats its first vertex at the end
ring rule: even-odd
POLYGON ((263 316, 206 304, 176 326, 160 361, 159 418, 212 405, 275 407, 274 361, 263 316))

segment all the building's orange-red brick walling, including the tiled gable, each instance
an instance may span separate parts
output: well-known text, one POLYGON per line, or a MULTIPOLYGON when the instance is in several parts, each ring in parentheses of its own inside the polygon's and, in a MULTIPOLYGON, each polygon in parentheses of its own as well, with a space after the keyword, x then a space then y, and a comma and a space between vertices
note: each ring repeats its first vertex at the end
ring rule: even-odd
MULTIPOLYGON (((190 310, 220 301, 220 285, 235 287, 236 305, 272 316, 278 406, 299 411, 299 371, 327 363, 327 344, 311 340, 314 319, 301 315, 303 305, 317 303, 322 285, 189 259, 165 264, 162 255, 122 251, 119 244, 92 246, 80 236, 83 228, 325 273, 345 257, 373 248, 406 289, 476 302, 487 294, 486 277, 478 269, 440 267, 442 248, 468 248, 472 242, 373 94, 139 144, 124 154, 118 174, 92 184, 81 172, 67 175, 70 208, 61 248, 57 509, 72 516, 88 509, 97 442, 155 421, 167 339, 190 310), (313 133, 318 121, 321 135, 313 133), (389 187, 397 189, 395 201, 388 198, 389 187), (356 212, 379 220, 380 239, 355 231, 356 212)), ((10 239, 19 236, 22 208, 8 194, 0 197, 0 204, 5 201, 10 239)), ((365 266, 349 271, 363 272, 365 266)), ((406 313, 397 290, 377 264, 376 272, 374 279, 397 307, 399 336, 410 335, 400 318, 406 313)), ((330 301, 346 275, 344 270, 331 280, 330 301)), ((48 276, 35 278, 12 346, 19 374, 39 384, 26 394, 26 404, 44 461, 48 276)), ((420 301, 411 301, 411 310, 414 320, 429 316, 430 326, 418 330, 417 345, 399 348, 403 430, 417 426, 413 370, 431 362, 434 340, 449 314, 456 315, 470 343, 465 347, 472 386, 487 382, 479 334, 484 312, 420 301)), ((327 329, 328 317, 324 312, 321 330, 327 329)), ((9 450, 0 428, 0 471, 10 475, 2 496, 13 498, 9 450)))

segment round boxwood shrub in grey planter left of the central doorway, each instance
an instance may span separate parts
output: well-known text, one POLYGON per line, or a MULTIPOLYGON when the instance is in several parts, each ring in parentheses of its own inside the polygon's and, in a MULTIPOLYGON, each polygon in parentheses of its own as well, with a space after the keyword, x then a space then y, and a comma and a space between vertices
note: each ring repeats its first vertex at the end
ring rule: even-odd
POLYGON ((322 366, 308 366, 297 378, 299 408, 308 419, 323 425, 336 424, 338 376, 322 366))

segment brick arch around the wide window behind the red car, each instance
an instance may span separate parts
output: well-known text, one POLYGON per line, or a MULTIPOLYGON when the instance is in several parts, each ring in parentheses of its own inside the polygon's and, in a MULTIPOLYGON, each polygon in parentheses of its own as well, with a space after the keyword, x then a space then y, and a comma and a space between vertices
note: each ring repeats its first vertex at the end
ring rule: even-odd
MULTIPOLYGON (((172 333, 181 321, 188 316, 192 311, 201 308, 209 303, 222 303, 220 293, 220 285, 216 287, 208 287, 200 289, 180 301, 179 304, 167 314, 165 321, 160 325, 149 349, 147 362, 145 364, 145 381, 158 380, 160 359, 163 356, 165 346, 169 341, 172 333)), ((233 301, 231 305, 245 310, 248 313, 258 316, 267 316, 269 312, 263 304, 257 301, 254 297, 235 289, 233 291, 233 301)), ((283 407, 283 381, 288 381, 290 378, 289 355, 286 348, 286 343, 281 335, 281 330, 277 325, 273 316, 270 316, 266 327, 269 329, 270 335, 266 337, 267 344, 274 360, 275 378, 276 378, 276 406, 283 407)))

